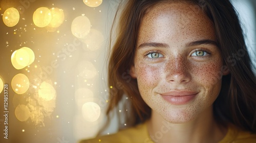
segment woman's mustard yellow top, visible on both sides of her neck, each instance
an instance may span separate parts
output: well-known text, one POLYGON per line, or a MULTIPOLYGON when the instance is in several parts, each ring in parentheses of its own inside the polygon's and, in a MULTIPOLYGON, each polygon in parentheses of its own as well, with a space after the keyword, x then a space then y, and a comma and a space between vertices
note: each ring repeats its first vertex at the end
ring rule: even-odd
MULTIPOLYGON (((94 139, 81 140, 80 143, 153 143, 147 133, 146 124, 140 124, 136 127, 121 130, 115 134, 99 136, 94 139)), ((255 143, 256 134, 247 131, 238 130, 230 125, 226 136, 219 143, 255 143)))

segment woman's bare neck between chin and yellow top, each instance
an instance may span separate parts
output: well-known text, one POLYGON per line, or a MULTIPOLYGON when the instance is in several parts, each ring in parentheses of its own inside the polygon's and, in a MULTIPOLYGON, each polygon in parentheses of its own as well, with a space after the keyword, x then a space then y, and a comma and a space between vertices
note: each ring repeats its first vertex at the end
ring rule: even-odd
POLYGON ((154 142, 218 142, 227 133, 227 129, 214 120, 212 107, 195 120, 181 124, 168 123, 152 110, 147 127, 154 142))

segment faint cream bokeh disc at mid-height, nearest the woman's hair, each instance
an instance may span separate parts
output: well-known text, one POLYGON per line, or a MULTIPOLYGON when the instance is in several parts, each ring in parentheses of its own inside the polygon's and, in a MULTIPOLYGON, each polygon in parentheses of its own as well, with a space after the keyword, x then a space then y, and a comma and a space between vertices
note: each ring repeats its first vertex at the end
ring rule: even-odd
POLYGON ((78 64, 78 72, 84 79, 93 79, 98 74, 95 66, 89 61, 81 61, 78 64))

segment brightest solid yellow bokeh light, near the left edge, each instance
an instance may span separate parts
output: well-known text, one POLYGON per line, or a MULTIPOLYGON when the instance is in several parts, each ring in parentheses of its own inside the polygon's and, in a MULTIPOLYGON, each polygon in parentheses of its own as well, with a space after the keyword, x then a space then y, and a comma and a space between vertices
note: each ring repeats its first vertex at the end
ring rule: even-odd
POLYGON ((14 68, 22 69, 35 60, 34 52, 29 47, 22 47, 12 53, 11 62, 14 68))

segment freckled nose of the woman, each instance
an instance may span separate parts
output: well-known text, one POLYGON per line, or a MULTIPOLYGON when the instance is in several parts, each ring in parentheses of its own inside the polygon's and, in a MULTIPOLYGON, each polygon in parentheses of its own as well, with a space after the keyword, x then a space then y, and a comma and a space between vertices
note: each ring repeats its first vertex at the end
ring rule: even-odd
POLYGON ((178 57, 166 62, 166 81, 169 83, 187 83, 191 80, 189 64, 184 57, 178 57))

